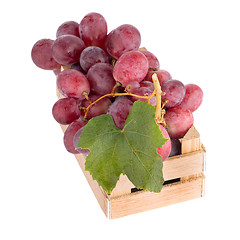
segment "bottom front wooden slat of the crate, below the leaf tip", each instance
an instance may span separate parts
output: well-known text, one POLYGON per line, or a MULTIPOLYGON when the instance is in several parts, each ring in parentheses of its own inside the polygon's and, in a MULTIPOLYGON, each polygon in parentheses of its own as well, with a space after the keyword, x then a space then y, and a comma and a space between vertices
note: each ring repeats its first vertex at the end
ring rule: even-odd
POLYGON ((139 191, 111 199, 109 218, 119 218, 202 196, 204 176, 163 186, 160 193, 139 191))

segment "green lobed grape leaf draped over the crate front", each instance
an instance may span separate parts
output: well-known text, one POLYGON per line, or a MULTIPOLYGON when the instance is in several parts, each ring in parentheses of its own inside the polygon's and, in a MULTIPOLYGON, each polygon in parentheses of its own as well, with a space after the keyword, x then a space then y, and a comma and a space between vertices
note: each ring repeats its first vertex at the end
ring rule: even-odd
POLYGON ((166 141, 155 121, 155 107, 136 101, 122 130, 109 114, 92 118, 77 147, 90 150, 85 169, 108 194, 121 173, 137 188, 160 192, 164 179, 157 148, 166 141))

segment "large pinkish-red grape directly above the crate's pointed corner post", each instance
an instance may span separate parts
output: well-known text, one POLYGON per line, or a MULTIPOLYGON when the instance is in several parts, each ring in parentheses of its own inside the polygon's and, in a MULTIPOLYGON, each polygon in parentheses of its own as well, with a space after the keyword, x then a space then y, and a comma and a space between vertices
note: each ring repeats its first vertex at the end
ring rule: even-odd
POLYGON ((192 112, 180 106, 167 109, 164 118, 171 138, 184 137, 193 125, 192 112))

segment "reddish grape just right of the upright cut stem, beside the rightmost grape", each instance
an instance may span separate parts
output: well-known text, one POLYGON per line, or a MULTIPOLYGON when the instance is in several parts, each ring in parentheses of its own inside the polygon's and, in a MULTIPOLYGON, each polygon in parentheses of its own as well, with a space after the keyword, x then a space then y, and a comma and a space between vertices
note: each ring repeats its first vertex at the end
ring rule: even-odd
POLYGON ((182 82, 169 80, 162 85, 162 91, 165 93, 162 96, 162 102, 168 100, 165 107, 171 108, 178 106, 182 102, 186 90, 182 82))

